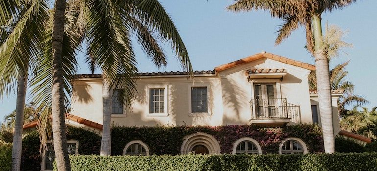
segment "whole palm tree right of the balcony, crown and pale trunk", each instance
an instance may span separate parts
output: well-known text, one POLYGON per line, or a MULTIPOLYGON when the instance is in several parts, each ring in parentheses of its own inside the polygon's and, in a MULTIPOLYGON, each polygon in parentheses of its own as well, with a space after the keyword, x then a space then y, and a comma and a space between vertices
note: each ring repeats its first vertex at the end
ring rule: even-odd
POLYGON ((321 14, 341 9, 354 1, 356 0, 237 0, 228 6, 228 10, 235 12, 267 10, 272 17, 282 19, 284 23, 278 30, 276 44, 289 37, 299 26, 305 27, 306 46, 315 57, 319 110, 326 153, 335 152, 335 139, 329 63, 322 39, 321 14))

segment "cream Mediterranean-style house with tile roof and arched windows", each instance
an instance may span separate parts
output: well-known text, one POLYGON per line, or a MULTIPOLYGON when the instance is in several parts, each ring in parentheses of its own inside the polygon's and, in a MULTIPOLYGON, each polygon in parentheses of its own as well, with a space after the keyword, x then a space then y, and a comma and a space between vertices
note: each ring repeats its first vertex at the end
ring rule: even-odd
MULTIPOLYGON (((309 90, 308 75, 315 66, 271 53, 258 53, 209 71, 139 73, 137 95, 130 111, 125 111, 113 89, 111 122, 118 126, 224 126, 321 125, 316 90, 309 90)), ((332 91, 334 135, 340 132, 337 100, 343 90, 332 91)), ((102 130, 102 77, 76 75, 73 81, 70 124, 102 130)), ((24 128, 33 127, 31 123, 24 128)), ((344 136, 370 141, 359 135, 344 136)), ((221 142, 224 143, 224 142, 221 142)), ((262 146, 253 137, 234 142, 231 153, 262 154, 262 146)), ((79 140, 70 140, 72 154, 79 140), (73 148, 74 147, 74 148, 73 148)), ((123 155, 150 155, 150 144, 141 140, 125 142, 123 155)), ((307 142, 287 137, 278 143, 280 154, 308 153, 307 142)), ((212 135, 196 132, 182 139, 181 154, 189 152, 219 154, 222 145, 212 135)), ((42 160, 42 170, 51 168, 51 160, 42 160), (48 164, 48 166, 47 166, 48 164)))

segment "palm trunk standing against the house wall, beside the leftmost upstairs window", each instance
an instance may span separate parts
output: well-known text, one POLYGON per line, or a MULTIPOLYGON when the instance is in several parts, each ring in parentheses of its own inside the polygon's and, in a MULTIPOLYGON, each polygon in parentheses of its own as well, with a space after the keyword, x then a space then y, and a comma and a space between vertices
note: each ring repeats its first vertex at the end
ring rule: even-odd
POLYGON ((103 129, 102 129, 102 141, 101 141, 101 156, 111 155, 111 103, 112 103, 112 93, 111 88, 107 80, 103 75, 102 83, 102 115, 103 115, 103 129))

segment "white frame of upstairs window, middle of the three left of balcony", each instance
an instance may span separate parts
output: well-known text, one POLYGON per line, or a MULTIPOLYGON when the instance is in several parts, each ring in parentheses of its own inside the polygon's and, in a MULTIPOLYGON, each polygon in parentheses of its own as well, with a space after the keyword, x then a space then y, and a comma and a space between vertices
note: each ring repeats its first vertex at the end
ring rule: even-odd
POLYGON ((147 108, 146 108, 146 116, 147 117, 166 117, 169 115, 169 107, 168 107, 168 86, 167 85, 150 85, 147 86, 147 108), (164 113, 151 113, 150 112, 150 90, 151 89, 164 89, 164 113))

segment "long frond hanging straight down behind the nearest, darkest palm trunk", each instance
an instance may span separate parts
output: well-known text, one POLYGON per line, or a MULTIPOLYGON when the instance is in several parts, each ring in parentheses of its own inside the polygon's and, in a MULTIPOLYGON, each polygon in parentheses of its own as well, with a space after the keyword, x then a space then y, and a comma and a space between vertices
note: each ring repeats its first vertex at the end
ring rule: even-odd
MULTIPOLYGON (((37 111, 40 115, 37 126, 40 132, 41 147, 43 152, 46 148, 45 142, 51 136, 51 112, 52 112, 52 31, 53 31, 53 11, 50 11, 50 18, 45 25, 46 29, 43 33, 44 42, 39 44, 41 55, 37 60, 35 68, 35 76, 31 80, 31 93, 33 102, 36 102, 37 111)), ((65 93, 64 104, 66 111, 70 107, 71 99, 71 81, 76 73, 76 52, 82 42, 83 32, 77 27, 77 14, 70 10, 66 11, 64 37, 62 46, 62 63, 63 63, 63 89, 65 93)))

